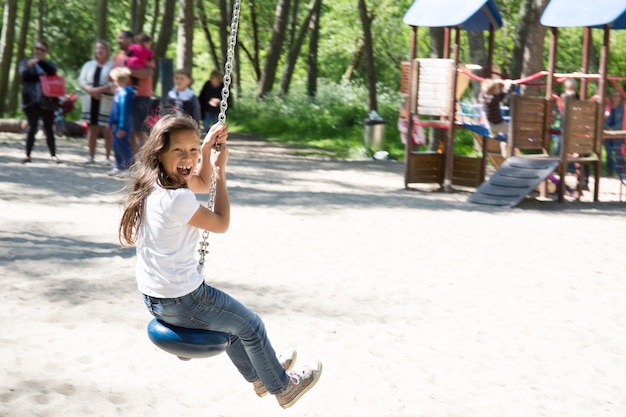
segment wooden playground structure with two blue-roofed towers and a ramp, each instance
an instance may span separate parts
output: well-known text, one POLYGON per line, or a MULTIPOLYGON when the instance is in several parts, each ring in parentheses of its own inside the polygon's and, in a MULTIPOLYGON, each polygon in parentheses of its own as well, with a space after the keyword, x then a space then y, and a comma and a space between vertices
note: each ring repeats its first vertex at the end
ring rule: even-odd
MULTIPOLYGON (((499 27, 498 25, 501 25, 499 12, 493 0, 476 0, 469 2, 446 0, 437 3, 436 7, 429 3, 432 2, 416 0, 404 17, 404 22, 412 26, 413 34, 411 41, 411 61, 403 65, 403 74, 405 74, 405 76, 401 90, 406 92, 409 96, 410 112, 420 116, 423 116, 420 101, 428 98, 428 84, 434 81, 420 79, 420 71, 422 71, 420 67, 423 67, 424 64, 427 63, 427 60, 416 58, 417 27, 444 27, 445 42, 443 60, 450 60, 449 40, 450 34, 454 29, 455 44, 452 47, 453 58, 450 60, 454 66, 453 73, 464 73, 474 79, 481 80, 483 78, 477 77, 459 68, 459 30, 489 30, 489 63, 483 74, 484 78, 489 78, 491 76, 492 67, 491 57, 493 55, 494 31, 499 27), (442 11, 445 11, 445 13, 442 13, 442 11)), ((514 84, 531 83, 536 82, 535 80, 539 78, 545 77, 545 97, 523 97, 517 99, 516 97, 518 96, 513 96, 508 138, 508 157, 510 158, 515 154, 518 163, 513 165, 518 167, 524 165, 526 167, 522 170, 526 173, 519 173, 521 177, 529 176, 528 171, 525 171, 530 169, 529 167, 537 167, 538 172, 535 174, 540 173, 541 175, 534 175, 533 180, 530 183, 519 186, 516 190, 517 192, 513 192, 515 191, 515 185, 513 185, 514 181, 501 181, 501 185, 495 187, 493 187, 493 184, 489 185, 488 183, 483 183, 477 190, 477 194, 480 195, 476 197, 472 196, 470 201, 484 204, 516 205, 532 191, 536 185, 545 180, 547 176, 551 175, 552 171, 557 170, 561 178, 564 178, 567 166, 571 163, 590 164, 593 166, 595 180, 593 189, 594 201, 598 200, 602 140, 605 137, 609 137, 606 132, 603 132, 604 109, 603 106, 600 105, 600 103, 605 102, 607 81, 613 83, 614 87, 620 91, 623 96, 626 96, 617 83, 617 80, 625 79, 625 77, 609 77, 607 75, 609 32, 611 28, 626 28, 626 4, 616 5, 609 0, 603 0, 603 3, 607 3, 605 7, 595 3, 591 6, 583 0, 550 1, 541 18, 541 23, 550 29, 548 69, 547 71, 541 71, 525 79, 514 80, 513 82, 514 84), (576 10, 576 13, 571 13, 572 10, 576 10), (555 72, 558 27, 583 27, 582 70, 579 73, 558 74, 555 72), (588 74, 592 28, 600 28, 604 31, 604 42, 600 49, 598 74, 588 74), (553 85, 555 82, 563 82, 569 78, 581 80, 581 100, 571 100, 571 103, 563 103, 562 106, 559 106, 562 107, 563 110, 563 129, 555 131, 551 127, 552 109, 555 100, 559 100, 559 98, 553 94, 553 85), (597 100, 593 102, 585 101, 587 100, 587 84, 591 80, 598 83, 598 97, 597 100), (560 134, 561 136, 560 153, 555 156, 550 156, 552 134, 560 134), (554 165, 554 169, 546 171, 546 165, 543 163, 520 165, 520 158, 543 158, 550 160, 550 165, 554 165), (520 197, 520 193, 524 194, 520 197), (503 198, 503 196, 508 197, 503 198)), ((448 79, 447 74, 441 72, 439 77, 444 79, 444 81, 448 79)), ((489 157, 490 162, 496 168, 499 168, 500 164, 503 162, 503 158, 498 159, 496 156, 496 149, 494 149, 493 146, 494 141, 489 138, 488 131, 481 132, 480 129, 476 129, 477 124, 475 123, 474 128, 467 125, 465 123, 465 119, 467 118, 466 111, 455 112, 457 107, 462 109, 462 106, 457 105, 459 96, 454 88, 456 78, 457 77, 454 75, 449 77, 450 81, 448 82, 451 83, 451 93, 446 96, 449 100, 447 106, 443 103, 439 103, 440 108, 447 108, 449 111, 445 114, 440 114, 439 120, 436 123, 433 123, 431 120, 424 120, 423 122, 423 125, 426 127, 442 128, 445 126, 447 135, 443 149, 440 152, 417 152, 412 144, 407 144, 405 156, 405 187, 408 187, 409 184, 412 183, 428 182, 439 183, 446 191, 450 191, 451 186, 454 184, 477 186, 473 185, 473 183, 476 178, 480 179, 479 183, 483 181, 487 157, 489 157), (477 142, 482 146, 482 158, 479 164, 476 164, 478 158, 454 155, 455 125, 456 127, 470 128, 474 137, 478 139, 477 142), (467 166, 467 164, 461 162, 463 160, 472 159, 474 162, 472 169, 463 169, 463 166, 467 166), (431 175, 424 175, 424 173, 431 175)), ((429 117, 433 116, 431 114, 425 115, 429 117)), ((618 136, 620 134, 626 136, 626 132, 612 132, 611 136, 618 136)), ((510 172, 511 169, 511 164, 508 164, 507 172, 510 172)), ((497 176, 498 175, 494 175, 492 178, 497 176)), ((580 193, 580 176, 578 176, 577 179, 577 188, 580 193)), ((565 182, 560 181, 558 184, 559 201, 563 201, 564 192, 565 182)))

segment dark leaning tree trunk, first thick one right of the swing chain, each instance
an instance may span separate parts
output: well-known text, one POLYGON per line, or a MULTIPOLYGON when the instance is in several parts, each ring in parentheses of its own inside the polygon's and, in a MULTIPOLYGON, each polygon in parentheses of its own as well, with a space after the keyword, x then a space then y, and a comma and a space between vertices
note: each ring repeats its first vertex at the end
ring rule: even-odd
POLYGON ((287 30, 287 22, 289 20, 290 0, 278 0, 276 4, 276 14, 274 15, 274 26, 272 28, 272 39, 265 58, 265 66, 261 74, 259 82, 258 98, 264 97, 272 91, 274 80, 276 79, 276 70, 278 68, 278 60, 283 49, 285 41, 285 31, 287 30))

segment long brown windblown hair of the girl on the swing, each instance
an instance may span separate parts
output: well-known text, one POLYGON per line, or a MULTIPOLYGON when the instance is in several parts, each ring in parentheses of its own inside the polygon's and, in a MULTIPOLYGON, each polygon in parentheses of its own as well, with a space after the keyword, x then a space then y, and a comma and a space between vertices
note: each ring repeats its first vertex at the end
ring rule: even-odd
POLYGON ((135 156, 131 180, 127 186, 129 192, 118 231, 122 247, 135 244, 137 231, 144 216, 146 199, 155 185, 163 188, 187 187, 185 181, 180 178, 169 177, 159 161, 159 156, 169 149, 170 134, 179 130, 192 130, 200 140, 198 124, 193 118, 180 112, 166 114, 154 125, 145 145, 135 156))

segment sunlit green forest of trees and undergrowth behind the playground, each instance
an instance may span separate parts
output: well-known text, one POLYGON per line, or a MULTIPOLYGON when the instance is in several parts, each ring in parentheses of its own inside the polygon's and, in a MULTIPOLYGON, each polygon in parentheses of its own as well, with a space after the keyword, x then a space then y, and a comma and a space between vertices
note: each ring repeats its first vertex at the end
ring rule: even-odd
MULTIPOLYGON (((396 128, 403 102, 400 66, 409 59, 411 37, 402 17, 412 3, 242 0, 230 129, 336 157, 363 157, 371 152, 363 146, 364 119, 376 110, 387 121, 386 150, 402 158, 396 128)), ((493 62, 505 77, 547 67, 547 32, 539 23, 547 3, 496 0, 504 25, 496 33, 493 62)), ((223 71, 232 7, 232 0, 3 0, 0 117, 21 117, 17 65, 32 56, 37 39, 50 44, 49 58, 74 92, 97 39, 108 40, 115 53, 118 31, 145 32, 154 39, 156 60, 169 58, 176 68, 190 70, 192 88, 199 93, 213 69, 223 71)), ((582 36, 581 28, 559 31, 557 72, 580 70, 582 36)), ((593 30, 592 36, 593 73, 602 33, 593 30)), ((462 32, 460 61, 484 65, 486 38, 481 32, 462 32)), ((441 56, 442 39, 443 30, 421 28, 418 57, 441 56)), ((609 74, 626 75, 626 36, 612 31, 610 42, 609 74)), ((155 77, 157 96, 163 94, 160 84, 155 77)), ((558 93, 562 87, 556 88, 558 93)), ((70 120, 79 114, 74 110, 70 120)), ((471 144, 456 151, 470 153, 471 144)))

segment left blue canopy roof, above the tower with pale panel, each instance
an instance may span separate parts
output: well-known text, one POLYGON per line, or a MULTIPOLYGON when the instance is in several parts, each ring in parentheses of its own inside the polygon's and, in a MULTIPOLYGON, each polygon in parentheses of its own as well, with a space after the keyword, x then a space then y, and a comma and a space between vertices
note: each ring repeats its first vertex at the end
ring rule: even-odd
POLYGON ((471 31, 489 30, 490 23, 494 29, 502 27, 495 0, 415 0, 402 21, 410 26, 459 26, 471 31))

